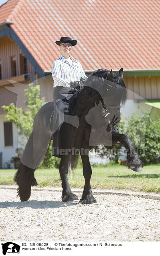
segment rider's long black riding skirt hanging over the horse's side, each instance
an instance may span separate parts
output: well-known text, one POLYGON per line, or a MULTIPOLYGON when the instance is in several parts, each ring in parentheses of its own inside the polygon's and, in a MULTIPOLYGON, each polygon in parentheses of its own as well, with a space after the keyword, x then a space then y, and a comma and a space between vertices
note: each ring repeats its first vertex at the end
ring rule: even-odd
POLYGON ((69 124, 78 128, 79 119, 71 115, 73 104, 71 98, 76 93, 76 88, 55 87, 53 92, 55 111, 53 115, 53 148, 52 155, 61 157, 68 147, 69 124))

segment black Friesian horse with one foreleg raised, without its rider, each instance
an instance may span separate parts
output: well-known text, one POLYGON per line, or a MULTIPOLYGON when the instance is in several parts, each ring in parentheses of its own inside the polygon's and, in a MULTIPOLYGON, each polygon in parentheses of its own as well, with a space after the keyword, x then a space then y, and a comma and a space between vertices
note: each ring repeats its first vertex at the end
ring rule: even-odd
MULTIPOLYGON (((71 97, 69 102, 72 106, 71 116, 79 118, 79 126, 64 124, 67 127, 65 131, 68 136, 68 145, 65 148, 67 153, 66 151, 64 153, 64 149, 61 151, 59 165, 63 202, 78 200, 77 196, 72 193, 67 179, 69 167, 74 167, 76 164, 77 151, 81 155, 85 178, 83 194, 79 201, 83 204, 96 202, 90 185, 92 170, 89 162, 89 150, 98 143, 105 143, 107 146, 122 143, 127 150, 128 168, 141 171, 143 163, 138 158, 130 138, 125 134, 118 133, 114 128, 115 124, 120 122, 120 107, 125 103, 126 97, 122 68, 118 75, 112 70, 95 70, 83 87, 71 97)), ((14 176, 21 201, 28 200, 31 186, 37 185, 34 171, 45 156, 49 142, 54 139, 51 132, 51 116, 53 114, 54 103, 49 102, 41 107, 34 119, 32 134, 26 144, 23 156, 20 158, 20 167, 14 176)))

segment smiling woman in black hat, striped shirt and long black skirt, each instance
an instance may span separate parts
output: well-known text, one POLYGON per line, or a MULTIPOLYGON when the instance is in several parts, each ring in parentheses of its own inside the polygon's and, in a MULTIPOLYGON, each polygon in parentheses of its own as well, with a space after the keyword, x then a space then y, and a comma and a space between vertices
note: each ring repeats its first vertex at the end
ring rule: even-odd
POLYGON ((70 116, 69 99, 76 92, 80 79, 81 83, 85 83, 87 76, 81 64, 70 55, 72 46, 77 44, 77 40, 72 40, 71 37, 61 37, 60 41, 55 43, 59 45, 62 54, 53 62, 52 66, 55 102, 52 155, 61 157, 59 149, 65 149, 67 145, 66 123, 77 127, 79 122, 76 117, 70 116))

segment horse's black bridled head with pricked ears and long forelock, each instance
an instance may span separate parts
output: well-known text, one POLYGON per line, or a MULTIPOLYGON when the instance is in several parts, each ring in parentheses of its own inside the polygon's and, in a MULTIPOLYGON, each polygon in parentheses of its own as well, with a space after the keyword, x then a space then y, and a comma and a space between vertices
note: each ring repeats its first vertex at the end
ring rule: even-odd
POLYGON ((91 87, 99 94, 103 109, 102 114, 109 119, 111 125, 120 122, 120 108, 126 102, 127 92, 123 79, 123 69, 119 74, 106 69, 95 70, 88 78, 85 86, 91 87))

